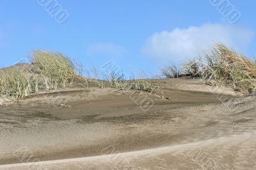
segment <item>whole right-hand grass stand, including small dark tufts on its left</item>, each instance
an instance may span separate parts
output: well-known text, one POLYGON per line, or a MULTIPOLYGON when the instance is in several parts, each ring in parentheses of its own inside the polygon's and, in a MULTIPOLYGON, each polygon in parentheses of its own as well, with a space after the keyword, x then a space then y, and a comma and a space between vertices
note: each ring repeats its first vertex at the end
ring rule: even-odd
POLYGON ((205 84, 228 86, 243 93, 256 91, 256 62, 222 43, 180 68, 171 63, 160 71, 167 78, 200 77, 205 84))

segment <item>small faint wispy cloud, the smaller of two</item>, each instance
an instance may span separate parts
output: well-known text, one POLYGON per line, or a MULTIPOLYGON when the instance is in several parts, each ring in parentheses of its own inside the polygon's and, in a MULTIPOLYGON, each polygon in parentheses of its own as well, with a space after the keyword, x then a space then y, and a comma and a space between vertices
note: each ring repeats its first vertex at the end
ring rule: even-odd
POLYGON ((117 46, 113 43, 94 43, 86 47, 86 52, 89 56, 106 55, 111 57, 118 57, 122 56, 126 50, 124 47, 117 46))

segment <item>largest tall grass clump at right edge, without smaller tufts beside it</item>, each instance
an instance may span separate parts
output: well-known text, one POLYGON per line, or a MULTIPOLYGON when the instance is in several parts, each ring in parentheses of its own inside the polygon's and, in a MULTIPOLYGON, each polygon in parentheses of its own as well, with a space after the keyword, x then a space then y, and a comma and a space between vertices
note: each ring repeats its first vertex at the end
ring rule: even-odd
POLYGON ((232 86, 237 91, 252 93, 256 89, 256 64, 221 43, 199 58, 205 83, 232 86), (215 81, 215 82, 214 82, 215 81))

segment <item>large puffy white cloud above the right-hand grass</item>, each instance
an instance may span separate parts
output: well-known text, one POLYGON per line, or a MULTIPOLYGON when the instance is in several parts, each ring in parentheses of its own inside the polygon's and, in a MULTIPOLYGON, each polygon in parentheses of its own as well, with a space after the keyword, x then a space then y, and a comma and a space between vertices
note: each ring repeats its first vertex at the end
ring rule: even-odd
POLYGON ((188 58, 195 58, 216 42, 232 45, 238 50, 244 49, 252 41, 253 35, 250 29, 221 24, 175 28, 150 36, 142 51, 145 56, 163 62, 185 61, 188 58))

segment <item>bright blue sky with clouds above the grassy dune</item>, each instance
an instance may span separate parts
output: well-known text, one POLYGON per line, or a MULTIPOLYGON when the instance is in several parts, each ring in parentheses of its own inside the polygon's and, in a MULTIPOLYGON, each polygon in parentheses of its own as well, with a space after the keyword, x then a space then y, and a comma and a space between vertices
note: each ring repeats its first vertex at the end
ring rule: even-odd
POLYGON ((1 67, 38 49, 61 52, 85 67, 100 68, 112 60, 126 73, 157 72, 170 61, 195 57, 214 42, 256 56, 253 0, 227 1, 241 13, 235 24, 211 0, 54 1, 68 13, 62 24, 41 5, 44 1, 50 0, 0 0, 1 67))

